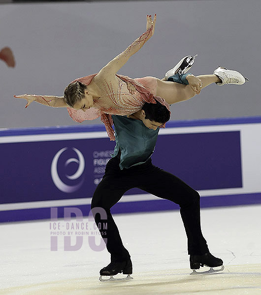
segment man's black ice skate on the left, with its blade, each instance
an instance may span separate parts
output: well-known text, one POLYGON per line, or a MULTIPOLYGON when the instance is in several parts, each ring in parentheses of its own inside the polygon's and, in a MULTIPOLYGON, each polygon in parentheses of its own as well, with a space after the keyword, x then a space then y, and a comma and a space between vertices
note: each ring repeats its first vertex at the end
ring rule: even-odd
POLYGON ((131 260, 123 261, 123 262, 117 262, 113 261, 109 265, 103 267, 100 271, 100 277, 99 280, 101 282, 112 282, 112 281, 127 281, 132 280, 133 278, 130 276, 132 273, 132 263, 131 260), (113 276, 118 273, 128 274, 125 278, 114 278, 113 276), (102 276, 110 276, 109 279, 103 279, 102 276))

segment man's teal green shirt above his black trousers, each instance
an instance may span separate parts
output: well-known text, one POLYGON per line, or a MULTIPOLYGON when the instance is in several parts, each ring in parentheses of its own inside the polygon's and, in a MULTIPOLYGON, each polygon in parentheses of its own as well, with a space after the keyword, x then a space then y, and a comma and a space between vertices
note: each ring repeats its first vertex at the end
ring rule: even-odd
POLYGON ((141 120, 126 116, 112 115, 116 146, 112 157, 116 157, 121 149, 120 168, 130 168, 145 163, 153 154, 158 133, 147 128, 141 120))

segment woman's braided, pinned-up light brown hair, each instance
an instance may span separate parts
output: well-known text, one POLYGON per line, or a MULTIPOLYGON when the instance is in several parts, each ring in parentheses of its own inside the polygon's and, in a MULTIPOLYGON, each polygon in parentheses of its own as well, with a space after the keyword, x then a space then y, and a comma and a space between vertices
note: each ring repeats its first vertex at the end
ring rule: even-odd
POLYGON ((64 94, 64 99, 65 103, 73 107, 73 105, 80 101, 82 98, 84 98, 84 90, 87 89, 87 86, 83 84, 82 82, 73 82, 70 83, 66 88, 65 88, 65 94, 64 94))

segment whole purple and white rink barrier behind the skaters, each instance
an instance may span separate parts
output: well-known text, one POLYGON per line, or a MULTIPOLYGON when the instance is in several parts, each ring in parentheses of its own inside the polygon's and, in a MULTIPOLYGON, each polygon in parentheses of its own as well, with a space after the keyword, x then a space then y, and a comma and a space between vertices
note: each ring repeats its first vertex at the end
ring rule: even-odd
MULTIPOLYGON (((259 177, 253 179, 250 176, 250 173, 261 175, 257 165, 261 162, 259 132, 261 132, 261 117, 170 121, 167 122, 166 128, 160 131, 153 164, 177 175, 198 190, 202 196, 201 207, 261 204, 259 177), (162 150, 164 152, 161 152, 162 150), (173 150, 178 156, 175 154, 173 156, 173 150), (172 171, 173 166, 175 171, 172 171), (198 170, 193 170, 191 167, 198 170)), ((80 125, 0 129, 0 144, 4 155, 2 165, 4 175, 0 179, 2 181, 0 222, 8 222, 49 219, 50 207, 59 208, 59 218, 63 217, 64 207, 80 208, 83 215, 87 216, 92 194, 110 157, 108 152, 113 150, 115 142, 109 141, 103 125, 80 125), (32 150, 36 150, 35 154, 32 150), (106 152, 105 158, 104 152, 106 152), (67 159, 69 164, 66 165, 71 165, 72 168, 70 171, 65 171, 68 167, 60 169, 64 175, 65 172, 68 175, 73 173, 76 175, 80 166, 83 166, 80 164, 82 158, 85 164, 84 174, 78 177, 77 181, 81 180, 85 185, 81 183, 82 187, 79 183, 75 185, 74 180, 69 180, 69 185, 66 185, 65 180, 68 179, 65 179, 65 176, 60 179, 59 175, 57 177, 60 182, 56 181, 55 184, 54 173, 49 173, 50 167, 54 166, 54 159, 52 165, 48 159, 50 153, 56 155, 60 153, 59 160, 56 161, 57 175, 60 169, 59 161, 62 161, 66 153, 68 154, 63 161, 65 163, 66 157, 71 157, 67 159), (90 156, 92 153, 93 158, 90 156), (73 167, 75 163, 78 163, 78 168, 73 167), (101 163, 101 166, 92 166, 94 163, 101 163), (98 169, 98 174, 94 175, 93 168, 98 169), (28 175, 24 175, 26 173, 28 175), (16 185, 12 181, 8 183, 9 179, 15 177, 20 179, 16 185), (31 182, 27 180, 28 178, 31 182), (95 181, 97 183, 94 183, 95 181), (88 200, 87 205, 75 203, 70 206, 66 204, 56 206, 51 201, 69 200, 73 203, 73 200, 78 198, 88 200), (30 207, 30 204, 37 204, 39 201, 47 202, 47 205, 30 207), (15 209, 11 209, 11 206, 8 208, 9 204, 16 205, 15 209), (23 204, 26 206, 29 204, 28 208, 19 208, 19 205, 23 204)), ((141 190, 131 189, 124 196, 125 200, 112 207, 111 211, 131 213, 179 209, 178 205, 167 200, 155 200, 155 197, 145 200, 145 196, 139 200, 142 194, 144 192, 141 190), (133 201, 128 202, 126 198, 133 201)))

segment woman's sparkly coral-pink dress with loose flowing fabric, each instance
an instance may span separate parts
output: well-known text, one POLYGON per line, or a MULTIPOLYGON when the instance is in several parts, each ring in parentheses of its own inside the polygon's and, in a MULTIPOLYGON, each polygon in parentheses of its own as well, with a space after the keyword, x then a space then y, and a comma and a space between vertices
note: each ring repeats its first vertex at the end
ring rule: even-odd
MULTIPOLYGON (((78 78, 73 82, 80 81, 86 85, 89 85, 92 79, 97 74, 78 78)), ((156 103, 155 99, 163 104, 168 110, 169 105, 165 100, 159 96, 156 96, 157 79, 155 77, 144 77, 131 79, 127 76, 116 75, 119 78, 118 91, 115 94, 110 85, 107 85, 106 97, 101 97, 98 100, 94 100, 94 107, 86 110, 74 110, 67 108, 70 117, 76 122, 83 122, 84 120, 94 120, 100 117, 104 123, 107 134, 110 140, 115 140, 114 130, 112 128, 113 120, 111 115, 127 116, 131 115, 139 110, 145 102, 156 103), (130 82, 134 85, 136 91, 130 94, 128 91, 123 90, 123 84, 130 82), (110 106, 110 107, 108 107, 110 106)), ((125 87, 126 89, 126 87, 125 87)), ((165 124, 162 126, 165 127, 165 124)))

